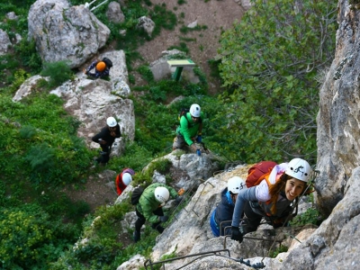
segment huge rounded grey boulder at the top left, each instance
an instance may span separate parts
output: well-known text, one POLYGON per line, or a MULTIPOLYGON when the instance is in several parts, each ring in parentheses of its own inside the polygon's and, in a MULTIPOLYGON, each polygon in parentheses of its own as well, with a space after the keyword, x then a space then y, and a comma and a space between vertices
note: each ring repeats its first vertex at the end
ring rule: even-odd
POLYGON ((67 0, 38 0, 28 16, 29 39, 45 62, 67 60, 79 67, 103 48, 110 30, 85 5, 67 0))

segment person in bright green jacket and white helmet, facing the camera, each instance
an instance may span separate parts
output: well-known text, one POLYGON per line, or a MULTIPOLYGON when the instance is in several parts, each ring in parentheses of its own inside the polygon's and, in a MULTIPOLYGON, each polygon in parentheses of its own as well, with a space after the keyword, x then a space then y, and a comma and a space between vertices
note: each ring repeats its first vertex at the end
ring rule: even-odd
POLYGON ((194 142, 202 142, 203 112, 198 104, 192 104, 189 112, 180 117, 180 125, 176 130, 173 150, 183 148, 185 145, 196 151, 194 142))

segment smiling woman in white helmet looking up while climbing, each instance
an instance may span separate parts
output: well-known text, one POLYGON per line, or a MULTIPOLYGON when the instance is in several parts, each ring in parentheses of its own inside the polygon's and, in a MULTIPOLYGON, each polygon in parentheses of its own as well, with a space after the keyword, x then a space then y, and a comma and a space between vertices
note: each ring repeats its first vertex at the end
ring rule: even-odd
POLYGON ((293 158, 289 163, 276 165, 260 184, 238 193, 231 239, 242 242, 243 234, 257 230, 262 218, 274 228, 286 225, 293 217, 294 200, 308 192, 311 171, 306 160, 293 158), (247 219, 240 224, 243 213, 247 219))

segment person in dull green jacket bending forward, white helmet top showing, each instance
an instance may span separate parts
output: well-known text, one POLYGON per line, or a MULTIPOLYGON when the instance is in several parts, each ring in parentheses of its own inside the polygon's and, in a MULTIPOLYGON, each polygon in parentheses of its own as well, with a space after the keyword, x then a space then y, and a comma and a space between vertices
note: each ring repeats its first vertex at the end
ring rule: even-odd
POLYGON ((169 197, 182 200, 182 197, 176 193, 175 189, 166 184, 150 184, 144 190, 139 198, 139 203, 136 205, 136 215, 138 220, 135 222, 134 240, 138 242, 140 239, 140 229, 145 221, 152 223, 151 228, 157 229, 159 233, 164 231, 164 228, 160 226, 161 222, 166 222, 168 216, 164 215, 162 206, 165 205, 169 197))

